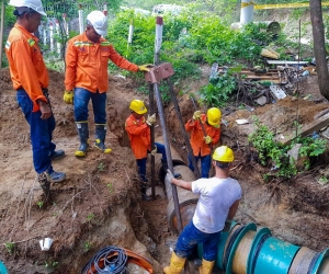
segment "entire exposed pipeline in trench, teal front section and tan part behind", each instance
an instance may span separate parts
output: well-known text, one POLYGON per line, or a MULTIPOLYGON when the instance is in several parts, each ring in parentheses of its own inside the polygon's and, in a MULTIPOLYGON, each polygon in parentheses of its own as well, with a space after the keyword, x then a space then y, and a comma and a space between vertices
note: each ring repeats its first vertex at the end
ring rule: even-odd
MULTIPOLYGON (((174 172, 181 173, 183 180, 195 180, 194 173, 183 164, 177 151, 172 147, 170 149, 175 156, 174 172)), ((159 179, 162 181, 163 173, 159 171, 158 174, 161 174, 159 179)), ((168 224, 171 231, 178 233, 171 183, 166 176, 164 186, 168 197, 168 224)), ((178 198, 182 224, 185 226, 193 217, 197 195, 178 187, 178 198)), ((226 228, 220 233, 215 262, 216 267, 226 274, 329 274, 329 248, 317 252, 295 246, 273 237, 269 228, 257 228, 253 222, 241 225, 231 221, 226 228)), ((197 247, 197 253, 202 258, 202 246, 197 247)))

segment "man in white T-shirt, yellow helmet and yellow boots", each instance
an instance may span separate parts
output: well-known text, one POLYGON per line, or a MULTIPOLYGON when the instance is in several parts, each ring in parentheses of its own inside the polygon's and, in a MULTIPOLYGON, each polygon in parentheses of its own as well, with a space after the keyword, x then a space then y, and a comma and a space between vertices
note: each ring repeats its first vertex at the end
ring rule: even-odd
POLYGON ((234 159, 234 152, 227 146, 216 148, 213 153, 215 176, 193 182, 174 179, 168 170, 167 179, 171 183, 200 194, 200 197, 194 216, 180 235, 170 265, 163 269, 163 273, 180 274, 188 254, 198 243, 203 244, 204 250, 198 271, 201 274, 212 273, 220 231, 225 227, 226 219, 235 217, 242 195, 239 182, 229 176, 229 168, 234 159))

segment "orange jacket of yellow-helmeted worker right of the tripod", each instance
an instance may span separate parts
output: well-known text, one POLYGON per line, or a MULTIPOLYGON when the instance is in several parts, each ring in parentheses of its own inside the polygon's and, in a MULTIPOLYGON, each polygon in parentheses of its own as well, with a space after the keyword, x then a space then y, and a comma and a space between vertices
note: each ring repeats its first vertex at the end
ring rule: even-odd
POLYGON ((208 124, 206 124, 207 121, 207 116, 206 114, 202 114, 201 115, 201 121, 203 124, 203 127, 206 132, 206 134, 208 136, 212 137, 213 141, 207 145, 204 141, 204 134, 200 124, 200 121, 193 121, 190 119, 188 121, 188 123, 185 124, 185 129, 188 133, 191 133, 191 146, 192 146, 192 150, 193 150, 193 155, 194 156, 206 156, 209 155, 212 152, 211 147, 209 146, 214 146, 219 141, 219 137, 220 137, 220 127, 216 128, 214 126, 211 126, 208 124))

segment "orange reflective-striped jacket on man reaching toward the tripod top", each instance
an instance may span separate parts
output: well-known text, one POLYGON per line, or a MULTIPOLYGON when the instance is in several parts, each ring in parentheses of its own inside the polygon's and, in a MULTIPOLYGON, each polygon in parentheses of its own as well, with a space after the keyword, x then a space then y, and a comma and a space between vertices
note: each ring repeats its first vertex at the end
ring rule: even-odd
POLYGON ((107 62, 137 72, 138 66, 122 57, 109 41, 90 42, 82 33, 67 44, 65 89, 83 88, 90 92, 106 92, 109 88, 107 62))

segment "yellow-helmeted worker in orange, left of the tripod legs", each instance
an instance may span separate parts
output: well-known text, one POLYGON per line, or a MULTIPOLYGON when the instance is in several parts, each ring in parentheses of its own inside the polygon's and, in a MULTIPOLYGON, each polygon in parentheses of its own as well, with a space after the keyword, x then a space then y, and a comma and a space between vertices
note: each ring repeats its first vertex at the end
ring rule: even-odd
MULTIPOLYGON (((128 134, 131 146, 136 158, 136 163, 138 168, 138 175, 141 182, 147 183, 148 179, 146 178, 146 162, 147 153, 151 155, 161 153, 162 159, 162 169, 168 170, 166 148, 160 142, 155 142, 155 148, 151 149, 150 141, 150 127, 156 123, 156 114, 148 115, 147 119, 144 114, 147 113, 147 109, 143 101, 133 100, 129 105, 132 114, 127 117, 125 123, 125 129, 128 134)), ((175 174, 175 178, 180 178, 179 173, 175 174)), ((146 189, 147 185, 141 185, 143 197, 146 198, 146 189)))

